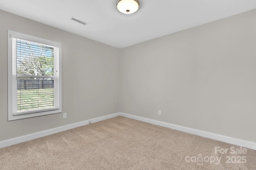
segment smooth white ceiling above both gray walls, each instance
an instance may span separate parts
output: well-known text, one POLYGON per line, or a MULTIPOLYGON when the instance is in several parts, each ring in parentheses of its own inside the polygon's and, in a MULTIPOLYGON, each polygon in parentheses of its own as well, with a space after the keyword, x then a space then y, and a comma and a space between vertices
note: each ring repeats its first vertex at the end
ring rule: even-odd
POLYGON ((126 15, 116 1, 0 0, 0 9, 117 48, 256 9, 256 0, 139 0, 126 15))

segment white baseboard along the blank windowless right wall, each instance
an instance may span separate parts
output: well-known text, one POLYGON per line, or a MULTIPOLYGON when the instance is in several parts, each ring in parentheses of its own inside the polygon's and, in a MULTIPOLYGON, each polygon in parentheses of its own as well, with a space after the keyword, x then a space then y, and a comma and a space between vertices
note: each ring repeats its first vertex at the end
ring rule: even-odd
POLYGON ((198 135, 198 136, 201 136, 201 137, 207 137, 207 138, 214 139, 214 140, 217 140, 217 141, 230 143, 232 145, 238 145, 238 146, 241 146, 241 147, 246 147, 246 148, 249 148, 249 149, 256 150, 256 143, 254 143, 254 142, 244 141, 244 140, 241 140, 241 139, 227 137, 227 136, 224 136, 224 135, 218 135, 218 134, 210 133, 210 132, 206 132, 206 131, 200 131, 200 130, 197 130, 197 129, 192 129, 192 128, 188 128, 188 127, 184 127, 184 126, 174 125, 174 124, 171 124, 171 123, 157 121, 157 120, 154 120, 154 119, 148 119, 148 118, 145 118, 145 117, 130 115, 130 114, 127 114, 127 113, 120 113, 120 116, 128 117, 128 118, 131 118, 131 119, 136 119, 136 120, 144 121, 144 122, 151 123, 151 124, 154 124, 154 125, 159 125, 159 126, 167 127, 167 128, 170 128, 170 129, 175 129, 175 130, 178 130, 178 131, 190 133, 190 134, 193 134, 193 135, 198 135))

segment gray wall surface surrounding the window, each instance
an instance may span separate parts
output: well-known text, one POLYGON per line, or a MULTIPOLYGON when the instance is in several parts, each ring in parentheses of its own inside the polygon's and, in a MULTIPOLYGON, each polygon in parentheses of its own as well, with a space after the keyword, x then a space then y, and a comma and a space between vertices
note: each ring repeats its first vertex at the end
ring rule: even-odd
POLYGON ((0 10, 0 141, 119 111, 120 50, 0 10), (7 30, 62 43, 62 113, 7 121, 7 30), (76 83, 70 83, 76 82, 76 83))

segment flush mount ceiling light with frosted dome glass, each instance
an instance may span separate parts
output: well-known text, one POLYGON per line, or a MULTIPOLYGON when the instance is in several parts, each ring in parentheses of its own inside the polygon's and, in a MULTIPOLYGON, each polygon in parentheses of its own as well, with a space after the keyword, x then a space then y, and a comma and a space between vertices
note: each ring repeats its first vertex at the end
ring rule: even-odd
POLYGON ((132 14, 138 10, 140 2, 138 0, 118 0, 117 9, 124 14, 132 14))

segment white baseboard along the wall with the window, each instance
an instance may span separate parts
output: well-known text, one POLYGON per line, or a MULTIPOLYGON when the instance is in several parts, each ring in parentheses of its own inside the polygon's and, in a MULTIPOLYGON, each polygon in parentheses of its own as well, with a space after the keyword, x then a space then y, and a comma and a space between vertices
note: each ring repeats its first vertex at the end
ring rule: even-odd
POLYGON ((94 119, 89 119, 89 120, 80 121, 80 122, 77 122, 77 123, 72 123, 72 124, 69 124, 69 125, 64 125, 64 126, 56 127, 56 128, 53 128, 53 129, 48 129, 48 130, 45 130, 45 131, 31 133, 31 134, 24 135, 24 136, 21 136, 21 137, 7 139, 5 141, 0 141, 0 148, 8 147, 8 146, 15 145, 15 144, 18 144, 18 143, 30 141, 32 139, 36 139, 36 138, 52 135, 54 133, 66 131, 66 130, 73 129, 73 128, 76 128, 76 127, 88 125, 89 121, 91 121, 91 123, 95 123, 97 121, 102 121, 102 120, 105 120, 105 119, 110 119, 112 117, 116 117, 116 116, 119 116, 119 115, 120 115, 120 113, 114 113, 114 114, 110 114, 110 115, 106 115, 106 116, 96 117, 94 119))

